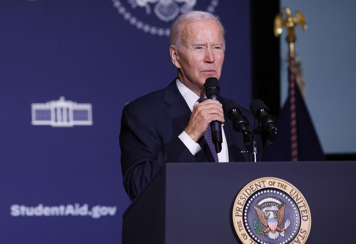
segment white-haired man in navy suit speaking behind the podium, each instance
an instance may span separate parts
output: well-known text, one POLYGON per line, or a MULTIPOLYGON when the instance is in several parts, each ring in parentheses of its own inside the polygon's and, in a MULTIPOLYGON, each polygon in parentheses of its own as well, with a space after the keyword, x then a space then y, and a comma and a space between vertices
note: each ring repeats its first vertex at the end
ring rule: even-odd
MULTIPOLYGON (((179 16, 171 27, 169 47, 178 77, 168 87, 125 106, 120 131, 121 168, 131 200, 164 162, 248 161, 242 136, 225 122, 221 103, 204 100, 206 78, 220 78, 224 32, 219 17, 211 13, 191 11, 179 16), (225 122, 222 150, 217 155, 209 147, 211 135, 209 139, 205 133, 212 121, 225 122)), ((252 129, 252 114, 239 109, 252 122, 252 129)))

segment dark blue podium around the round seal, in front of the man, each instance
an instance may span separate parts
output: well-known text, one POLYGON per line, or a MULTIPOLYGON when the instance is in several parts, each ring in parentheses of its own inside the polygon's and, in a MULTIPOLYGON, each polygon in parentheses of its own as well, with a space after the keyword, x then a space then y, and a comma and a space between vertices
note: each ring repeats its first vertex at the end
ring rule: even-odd
POLYGON ((122 243, 239 243, 235 198, 249 182, 276 177, 307 200, 307 243, 355 242, 355 161, 166 163, 125 211, 122 243))

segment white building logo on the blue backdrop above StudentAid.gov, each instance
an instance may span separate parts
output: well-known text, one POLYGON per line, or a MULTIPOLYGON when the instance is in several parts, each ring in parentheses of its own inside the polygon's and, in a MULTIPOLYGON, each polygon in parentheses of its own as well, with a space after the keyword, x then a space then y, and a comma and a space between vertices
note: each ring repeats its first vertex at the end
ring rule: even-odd
POLYGON ((90 103, 59 100, 31 104, 34 126, 73 127, 91 126, 93 117, 90 103))

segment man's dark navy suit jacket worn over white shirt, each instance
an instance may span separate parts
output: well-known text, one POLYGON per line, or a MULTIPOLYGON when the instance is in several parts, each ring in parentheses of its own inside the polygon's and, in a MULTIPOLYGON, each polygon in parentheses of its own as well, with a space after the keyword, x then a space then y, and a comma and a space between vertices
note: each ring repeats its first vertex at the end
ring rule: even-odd
MULTIPOLYGON (((224 100, 220 98, 222 104, 224 100)), ((252 131, 257 126, 255 118, 243 107, 239 106, 239 109, 250 122, 252 131)), ((214 162, 204 136, 198 140, 201 151, 195 156, 178 138, 191 113, 178 90, 176 79, 168 87, 142 96, 124 107, 120 130, 121 168, 124 187, 131 200, 150 182, 162 163, 214 162)), ((226 116, 224 132, 229 161, 249 161, 248 153, 244 153, 247 150, 242 135, 234 131, 226 116)))

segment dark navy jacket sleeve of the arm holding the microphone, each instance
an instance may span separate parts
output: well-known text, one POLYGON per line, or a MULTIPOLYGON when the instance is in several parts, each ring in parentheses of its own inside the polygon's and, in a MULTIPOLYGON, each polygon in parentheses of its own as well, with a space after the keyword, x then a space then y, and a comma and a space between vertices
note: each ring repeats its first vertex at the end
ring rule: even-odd
POLYGON ((160 170, 163 162, 197 161, 178 138, 182 131, 172 126, 172 120, 165 116, 162 108, 148 107, 133 101, 122 111, 121 168, 131 201, 160 170))

